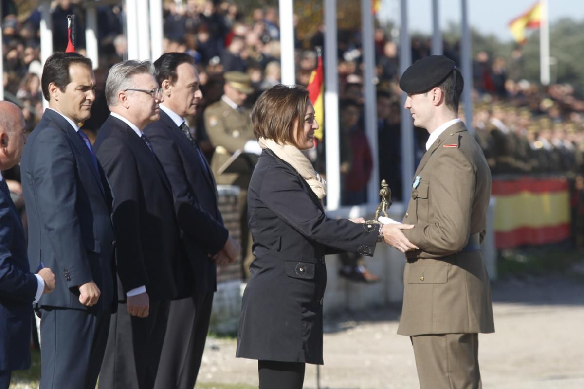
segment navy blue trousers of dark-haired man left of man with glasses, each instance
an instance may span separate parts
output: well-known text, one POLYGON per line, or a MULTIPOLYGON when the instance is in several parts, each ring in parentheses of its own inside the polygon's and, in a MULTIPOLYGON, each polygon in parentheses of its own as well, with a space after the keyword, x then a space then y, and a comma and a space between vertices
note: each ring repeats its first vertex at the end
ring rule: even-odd
POLYGON ((41 308, 40 389, 95 389, 109 311, 41 308))

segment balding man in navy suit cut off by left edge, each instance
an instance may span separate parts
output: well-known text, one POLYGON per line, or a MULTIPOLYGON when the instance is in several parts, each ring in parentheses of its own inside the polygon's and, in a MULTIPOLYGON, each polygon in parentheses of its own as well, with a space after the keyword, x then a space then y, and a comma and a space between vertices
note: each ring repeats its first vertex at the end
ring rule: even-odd
MULTIPOLYGON (((13 103, 0 101, 0 170, 20 162, 25 118, 13 103)), ((51 269, 30 272, 25 230, 0 173, 0 389, 8 389, 12 370, 30 367, 32 303, 55 288, 51 269)))

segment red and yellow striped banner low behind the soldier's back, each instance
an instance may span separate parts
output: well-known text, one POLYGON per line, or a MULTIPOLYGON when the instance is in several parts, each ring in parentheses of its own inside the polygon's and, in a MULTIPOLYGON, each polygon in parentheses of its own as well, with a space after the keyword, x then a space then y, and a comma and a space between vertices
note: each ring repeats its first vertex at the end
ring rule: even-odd
POLYGON ((564 178, 493 180, 495 245, 554 243, 570 237, 570 197, 564 178))

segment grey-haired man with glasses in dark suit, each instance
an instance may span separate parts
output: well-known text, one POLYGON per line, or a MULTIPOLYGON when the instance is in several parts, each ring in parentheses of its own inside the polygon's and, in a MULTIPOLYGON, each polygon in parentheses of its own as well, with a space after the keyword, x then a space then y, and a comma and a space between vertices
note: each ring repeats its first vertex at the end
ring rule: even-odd
MULTIPOLYGON (((106 81, 112 114, 95 149, 116 194, 119 310, 112 316, 100 388, 151 388, 171 299, 185 296, 179 230, 171 184, 142 134, 163 100, 151 62, 119 62, 106 81)), ((186 262, 185 262, 186 264, 186 262)), ((190 275, 192 276, 192 275, 190 275)))

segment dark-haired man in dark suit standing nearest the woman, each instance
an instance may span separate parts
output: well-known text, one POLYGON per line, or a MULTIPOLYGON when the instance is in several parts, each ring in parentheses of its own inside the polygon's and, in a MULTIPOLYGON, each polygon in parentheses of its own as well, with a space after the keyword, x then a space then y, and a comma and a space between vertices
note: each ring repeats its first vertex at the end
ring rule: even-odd
POLYGON ((160 119, 144 133, 172 185, 186 255, 195 278, 193 295, 171 302, 156 388, 192 389, 197 379, 216 290, 216 265, 239 254, 223 226, 215 180, 184 119, 203 98, 190 55, 171 52, 154 62, 164 102, 160 119))

